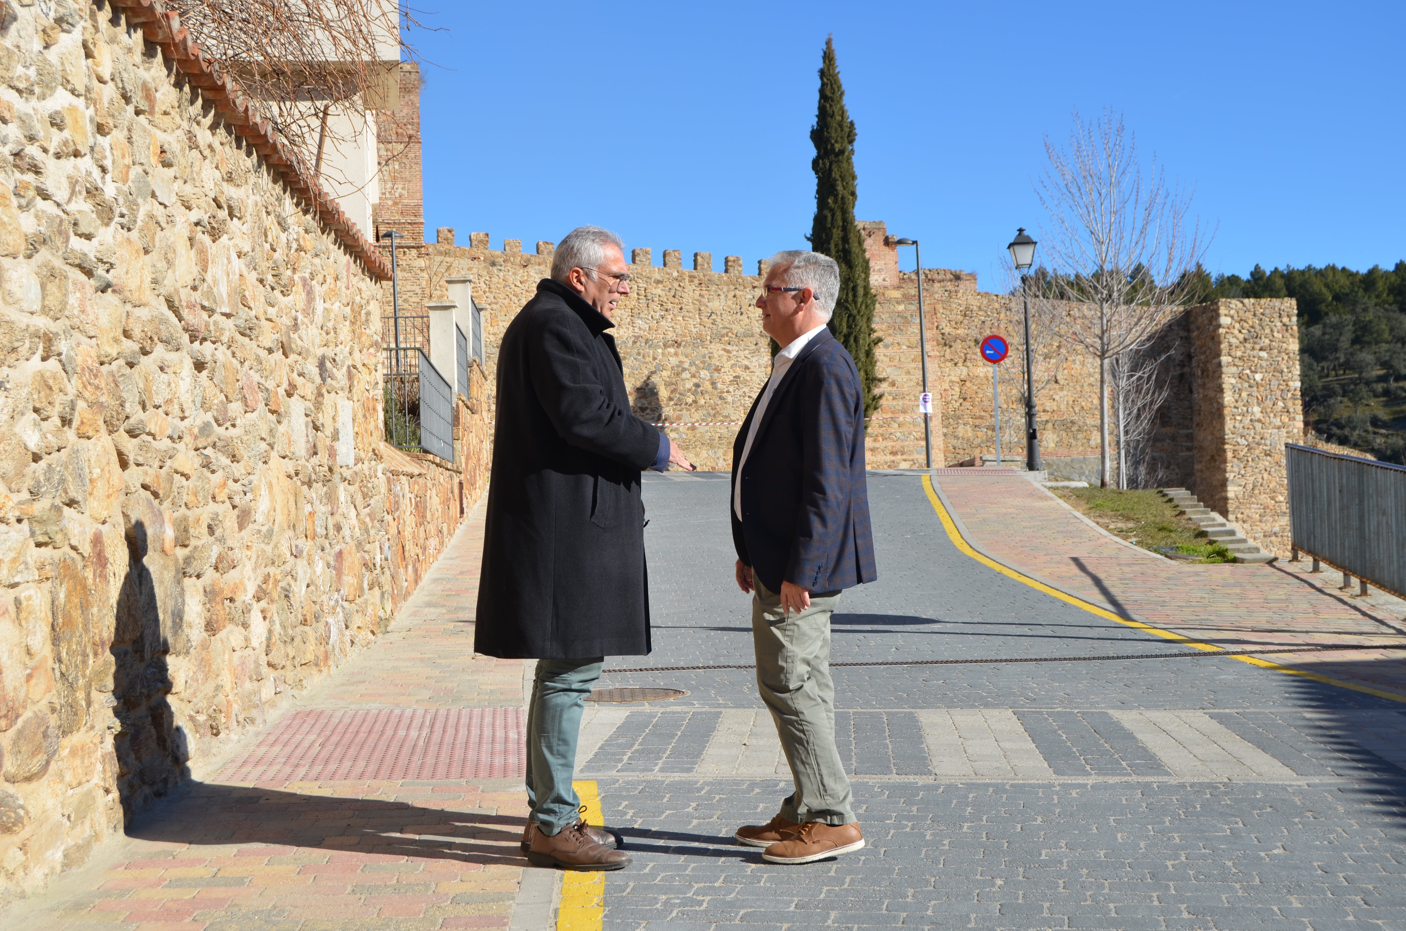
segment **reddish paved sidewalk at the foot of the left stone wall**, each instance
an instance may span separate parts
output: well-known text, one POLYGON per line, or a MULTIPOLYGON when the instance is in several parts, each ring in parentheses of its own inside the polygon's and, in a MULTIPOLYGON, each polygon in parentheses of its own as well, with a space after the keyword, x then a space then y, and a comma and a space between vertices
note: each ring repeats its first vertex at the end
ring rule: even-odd
POLYGON ((8 927, 508 927, 523 662, 472 651, 482 533, 479 509, 380 643, 8 927))

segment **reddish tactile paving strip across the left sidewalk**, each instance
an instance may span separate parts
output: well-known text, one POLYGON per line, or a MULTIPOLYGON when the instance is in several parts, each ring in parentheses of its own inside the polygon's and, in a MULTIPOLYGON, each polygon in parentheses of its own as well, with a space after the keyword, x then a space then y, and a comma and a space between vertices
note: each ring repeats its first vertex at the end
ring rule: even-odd
POLYGON ((295 712, 224 782, 501 779, 522 776, 520 707, 295 712))

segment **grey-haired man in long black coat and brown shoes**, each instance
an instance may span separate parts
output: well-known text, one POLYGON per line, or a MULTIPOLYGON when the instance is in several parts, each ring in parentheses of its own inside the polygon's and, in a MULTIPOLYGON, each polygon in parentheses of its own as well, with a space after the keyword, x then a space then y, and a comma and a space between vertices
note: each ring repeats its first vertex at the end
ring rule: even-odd
POLYGON ((474 648, 536 658, 523 851, 538 866, 620 869, 571 788, 585 698, 606 655, 650 653, 640 470, 692 470, 630 412, 609 330, 630 293, 620 238, 571 231, 498 350, 498 413, 474 648))

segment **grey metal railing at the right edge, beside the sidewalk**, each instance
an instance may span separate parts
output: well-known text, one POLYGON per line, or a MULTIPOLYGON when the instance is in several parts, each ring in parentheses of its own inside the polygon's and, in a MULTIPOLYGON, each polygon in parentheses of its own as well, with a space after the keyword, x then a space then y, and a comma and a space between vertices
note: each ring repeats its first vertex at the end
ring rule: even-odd
POLYGON ((1285 466, 1295 556, 1406 592, 1406 467, 1298 443, 1285 443, 1285 466))

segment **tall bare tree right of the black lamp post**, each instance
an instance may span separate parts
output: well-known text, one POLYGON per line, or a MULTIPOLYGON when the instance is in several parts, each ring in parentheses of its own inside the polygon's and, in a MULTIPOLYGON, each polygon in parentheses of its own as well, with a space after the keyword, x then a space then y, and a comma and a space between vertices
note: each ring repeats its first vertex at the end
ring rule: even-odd
MULTIPOLYGON (((1099 484, 1109 484, 1108 381, 1114 359, 1146 364, 1140 350, 1192 297, 1189 273, 1205 252, 1199 224, 1188 226, 1191 195, 1168 188, 1156 158, 1146 174, 1123 118, 1074 114, 1069 148, 1047 136, 1049 167, 1036 184, 1049 212, 1040 246, 1047 294, 1069 301, 1052 323, 1098 360, 1099 484)), ((1125 375, 1128 378, 1130 375, 1125 375)))

